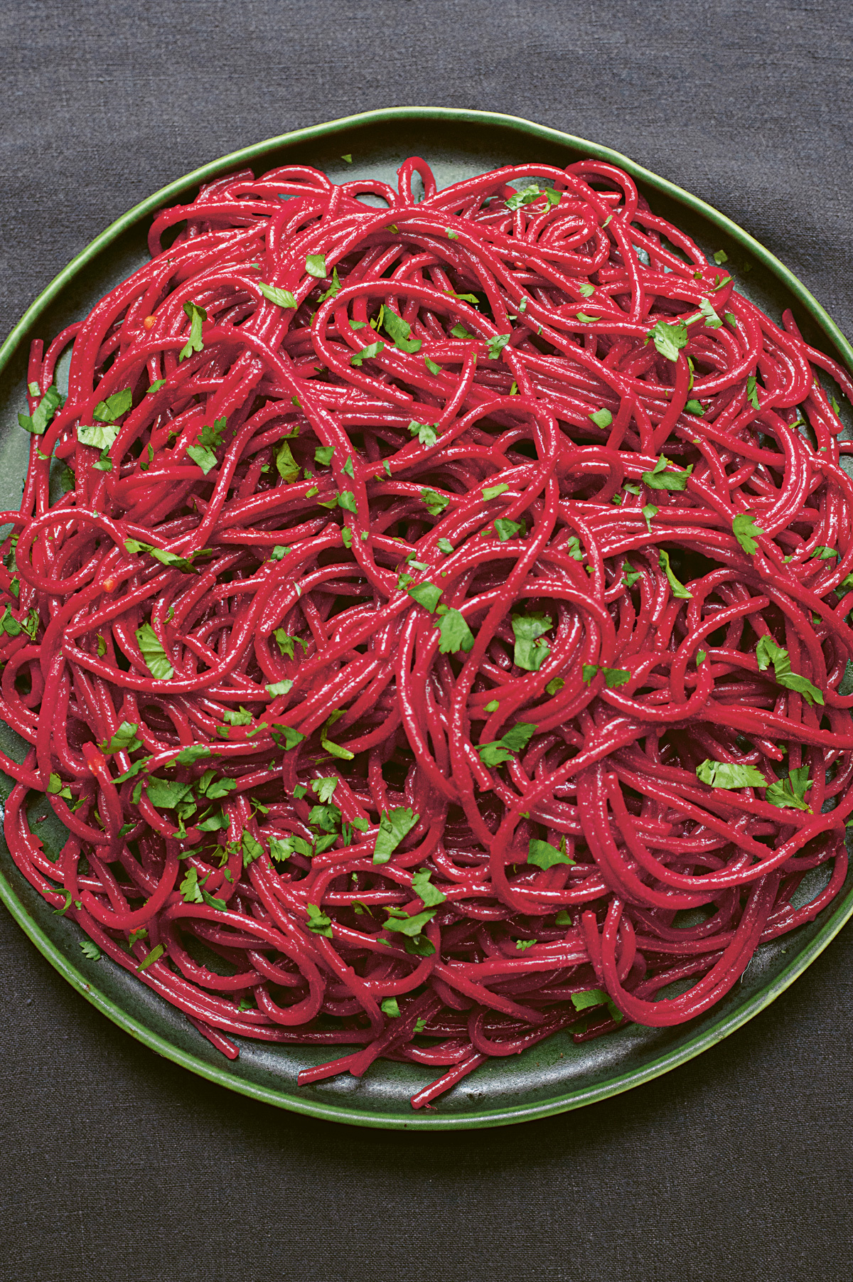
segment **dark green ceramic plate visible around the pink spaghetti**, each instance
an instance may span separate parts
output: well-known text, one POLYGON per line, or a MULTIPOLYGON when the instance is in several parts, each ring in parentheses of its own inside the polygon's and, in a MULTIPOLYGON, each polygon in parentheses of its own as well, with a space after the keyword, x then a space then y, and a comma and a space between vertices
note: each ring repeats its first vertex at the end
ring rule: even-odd
MULTIPOLYGON (((18 428, 24 405, 26 359, 32 338, 50 338, 82 318, 113 285, 146 262, 145 237, 155 210, 191 200, 199 183, 251 167, 263 173, 284 163, 313 164, 332 178, 379 177, 396 181, 407 155, 424 156, 439 186, 496 165, 547 162, 565 165, 598 156, 626 169, 652 208, 683 227, 707 251, 725 249, 738 287, 774 319, 793 308, 807 338, 853 369, 853 350, 811 294, 766 249, 702 200, 658 178, 607 147, 528 121, 487 112, 442 108, 391 108, 298 129, 223 156, 179 178, 132 209, 83 250, 38 296, 0 349, 0 508, 17 508, 26 470, 28 437, 18 428), (352 155, 346 164, 343 154, 352 155), (747 269, 749 271, 747 272, 747 269)), ((22 759, 20 741, 5 731, 0 746, 22 759)), ((5 778, 5 777, 4 777, 5 778)), ((6 781, 8 795, 9 781, 6 781)), ((40 806, 40 813, 41 813, 40 806)), ((63 829, 40 827, 58 851, 63 829)), ((811 899, 820 870, 800 897, 811 899)), ((0 895, 47 960, 99 1010, 146 1046, 229 1090, 280 1108, 357 1126, 443 1129, 506 1126, 579 1108, 625 1091, 683 1064, 758 1014, 792 983, 853 913, 853 876, 841 895, 813 923, 765 946, 743 981, 707 1015, 672 1029, 631 1026, 599 1041, 575 1046, 551 1040, 511 1059, 483 1065, 444 1096, 430 1113, 415 1113, 409 1097, 434 1076, 410 1064, 375 1064, 362 1081, 342 1077, 298 1090, 300 1068, 320 1063, 328 1051, 268 1047, 243 1042, 236 1063, 227 1061, 184 1019, 111 962, 87 962, 81 931, 54 915, 27 885, 5 846, 0 851, 0 895)))

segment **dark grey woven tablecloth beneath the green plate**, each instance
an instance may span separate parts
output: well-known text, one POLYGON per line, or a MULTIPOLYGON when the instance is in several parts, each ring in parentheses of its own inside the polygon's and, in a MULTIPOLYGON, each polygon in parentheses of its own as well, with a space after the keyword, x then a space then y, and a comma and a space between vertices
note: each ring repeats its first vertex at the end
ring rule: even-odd
MULTIPOLYGON (((853 333, 848 4, 0 0, 0 335, 167 181, 375 106, 529 117, 753 232, 853 333)), ((849 1277, 853 931, 715 1050, 484 1133, 279 1114, 156 1059, 0 912, 0 1276, 849 1277)))

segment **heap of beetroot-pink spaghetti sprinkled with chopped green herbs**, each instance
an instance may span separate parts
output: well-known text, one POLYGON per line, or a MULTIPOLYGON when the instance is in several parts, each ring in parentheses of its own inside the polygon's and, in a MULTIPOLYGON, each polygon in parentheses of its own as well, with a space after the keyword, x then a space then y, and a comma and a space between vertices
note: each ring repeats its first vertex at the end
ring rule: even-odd
POLYGON ((150 241, 31 354, 23 874, 225 1055, 415 1108, 707 1010, 847 870, 847 373, 592 160, 243 172, 150 241))

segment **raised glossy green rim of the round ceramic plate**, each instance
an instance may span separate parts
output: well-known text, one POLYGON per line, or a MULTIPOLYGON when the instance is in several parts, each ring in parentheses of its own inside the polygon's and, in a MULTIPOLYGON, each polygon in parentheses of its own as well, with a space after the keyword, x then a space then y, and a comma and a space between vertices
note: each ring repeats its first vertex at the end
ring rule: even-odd
MULTIPOLYGON (((685 205, 688 209, 699 214, 704 219, 715 223, 731 241, 735 241, 743 249, 747 249, 753 258, 761 262, 797 297, 799 304, 811 314, 817 326, 833 341, 843 362, 853 373, 853 346, 850 346, 841 329, 836 326, 811 291, 789 268, 785 267, 784 263, 771 254, 770 250, 767 250, 749 232, 744 231, 743 227, 733 222, 699 196, 694 196, 692 192, 685 191, 683 187, 670 182, 667 178, 662 178, 660 174, 647 169, 644 165, 638 164, 612 147, 592 142, 588 138, 581 138, 561 129, 555 129, 549 126, 537 124, 535 122, 524 119, 523 117, 507 115, 500 112, 480 112, 474 109, 456 109, 446 106, 392 106, 378 108, 370 112, 360 112, 355 115, 346 115, 334 121, 325 121, 320 124, 306 126, 300 129, 292 129, 287 133, 265 138, 260 142, 254 142, 247 147, 241 147, 237 151, 228 153, 227 155, 219 156, 218 159, 210 160, 206 164, 192 169, 182 177, 174 178, 172 182, 167 183, 165 187, 160 187, 145 200, 138 201, 113 223, 110 223, 77 255, 74 255, 74 258, 70 259, 70 262, 31 303, 0 346, 0 377, 5 372, 9 358, 24 337, 27 329, 29 329, 29 327, 38 320, 65 285, 73 281, 79 271, 102 249, 108 247, 134 223, 150 217, 150 214, 155 213, 164 204, 181 196, 187 187, 196 186, 207 178, 218 177, 229 168, 240 165, 243 162, 255 160, 277 146, 315 141, 342 132, 353 126, 370 126, 387 123, 389 121, 437 121, 446 122, 448 124, 473 123, 500 126, 505 129, 515 131, 516 133, 526 133, 529 136, 542 138, 546 142, 556 142, 585 150, 596 159, 619 165, 631 174, 631 177, 648 183, 657 191, 663 192, 679 204, 685 205)), ((147 1027, 141 1019, 129 1014, 111 997, 108 997, 76 965, 73 965, 61 950, 42 931, 38 923, 29 915, 24 903, 18 896, 15 888, 12 886, 3 870, 0 870, 0 900, 3 900, 13 919, 28 936, 31 942, 38 949, 54 969, 72 986, 72 988, 90 1001, 97 1010, 101 1011, 101 1014, 106 1015, 114 1024, 156 1054, 163 1055, 165 1059, 172 1060, 179 1067, 186 1068, 196 1076, 206 1078, 218 1086, 224 1086, 227 1090, 236 1091, 237 1094, 248 1096, 260 1103, 287 1109, 288 1111, 300 1113, 327 1122, 339 1122, 347 1126, 365 1126, 379 1129, 402 1131, 455 1131, 511 1126, 520 1122, 530 1122, 538 1118, 569 1111, 587 1104, 594 1104, 603 1099, 610 1099, 613 1095, 619 1095, 622 1091, 630 1090, 634 1086, 640 1086, 644 1082, 652 1081, 653 1078, 678 1068, 680 1064, 686 1063, 695 1055, 702 1054, 702 1051, 708 1050, 711 1046, 722 1041, 725 1037, 730 1036, 745 1024, 749 1019, 753 1019, 757 1014, 765 1010, 766 1006, 768 1006, 794 982, 794 979, 803 973, 803 970, 807 969, 807 967, 812 964, 812 962, 824 951, 824 949, 853 915, 853 887, 850 887, 843 899, 838 900, 833 905, 829 918, 822 923, 812 940, 803 949, 800 949, 797 956, 793 958, 792 962, 789 962, 772 979, 758 988, 757 992, 754 992, 740 1009, 731 1011, 725 1018, 717 1019, 712 1026, 702 1029, 694 1037, 683 1042, 681 1046, 665 1050, 660 1056, 639 1068, 617 1072, 615 1076, 608 1076, 603 1081, 594 1085, 564 1091, 557 1096, 539 1100, 534 1104, 517 1104, 496 1109, 476 1109, 471 1113, 438 1114, 416 1113, 415 1110, 411 1110, 411 1113, 405 1114, 374 1113, 357 1106, 353 1108, 336 1103, 318 1101, 309 1097, 301 1099, 297 1095, 286 1094, 284 1088, 266 1087, 259 1082, 233 1077, 224 1065, 219 1067, 206 1063, 199 1056, 183 1050, 181 1046, 168 1041, 165 1037, 160 1036, 160 1033, 147 1027)), ((291 1090, 298 1090, 296 1083, 293 1083, 291 1090)))

